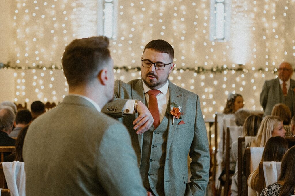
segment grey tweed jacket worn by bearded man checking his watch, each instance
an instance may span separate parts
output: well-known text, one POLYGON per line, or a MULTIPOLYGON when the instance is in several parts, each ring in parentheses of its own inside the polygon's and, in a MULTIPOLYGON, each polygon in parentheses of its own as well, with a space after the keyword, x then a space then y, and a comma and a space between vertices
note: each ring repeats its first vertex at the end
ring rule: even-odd
MULTIPOLYGON (((201 113, 199 96, 195 93, 180 88, 169 81, 169 103, 182 106, 181 119, 175 119, 172 125, 172 115, 168 120, 168 137, 166 145, 166 161, 164 169, 165 195, 183 196, 200 195, 204 191, 209 180, 209 146, 204 119, 201 113), (185 124, 178 123, 183 120, 185 124), (192 159, 191 182, 188 183, 187 155, 192 159)), ((117 99, 103 108, 103 112, 116 117, 122 117, 124 104, 128 99, 137 99, 145 103, 142 80, 132 80, 129 83, 115 81, 115 93, 117 99), (109 108, 109 111, 107 109, 109 108), (113 108, 113 110, 112 110, 113 108), (116 110, 116 111, 115 111, 116 110)), ((170 114, 170 110, 166 111, 170 114)), ((132 146, 140 161, 148 161, 149 157, 142 157, 143 135, 137 135, 133 130, 132 122, 138 114, 126 115, 120 120, 129 130, 132 146)), ((153 131, 154 127, 150 128, 153 131)))

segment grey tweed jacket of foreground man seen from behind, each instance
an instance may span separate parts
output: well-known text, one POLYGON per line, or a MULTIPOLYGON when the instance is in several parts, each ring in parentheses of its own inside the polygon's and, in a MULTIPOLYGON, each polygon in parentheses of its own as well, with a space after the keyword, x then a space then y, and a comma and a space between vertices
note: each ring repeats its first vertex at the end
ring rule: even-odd
POLYGON ((146 196, 124 125, 79 96, 33 121, 23 156, 29 196, 146 196))

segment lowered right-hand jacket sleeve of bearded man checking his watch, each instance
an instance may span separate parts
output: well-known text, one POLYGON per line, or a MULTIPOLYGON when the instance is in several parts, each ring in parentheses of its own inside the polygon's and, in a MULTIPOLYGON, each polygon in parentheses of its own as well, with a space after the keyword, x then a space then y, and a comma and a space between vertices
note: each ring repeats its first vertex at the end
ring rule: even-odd
POLYGON ((189 156, 191 157, 191 182, 187 187, 185 195, 205 194, 209 181, 210 153, 207 138, 207 130, 200 108, 199 96, 196 100, 194 139, 191 144, 189 156))

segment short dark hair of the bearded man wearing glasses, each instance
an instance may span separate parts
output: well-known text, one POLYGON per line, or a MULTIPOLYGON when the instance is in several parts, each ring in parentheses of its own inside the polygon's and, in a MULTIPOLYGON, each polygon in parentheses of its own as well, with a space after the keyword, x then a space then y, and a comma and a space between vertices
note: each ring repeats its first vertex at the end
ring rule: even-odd
POLYGON ((167 41, 165 41, 163 39, 155 39, 153 41, 150 41, 145 46, 145 49, 143 50, 143 52, 145 52, 146 49, 153 49, 153 50, 155 50, 157 52, 167 53, 167 54, 170 55, 172 60, 174 58, 174 49, 172 48, 170 43, 168 43, 167 41))

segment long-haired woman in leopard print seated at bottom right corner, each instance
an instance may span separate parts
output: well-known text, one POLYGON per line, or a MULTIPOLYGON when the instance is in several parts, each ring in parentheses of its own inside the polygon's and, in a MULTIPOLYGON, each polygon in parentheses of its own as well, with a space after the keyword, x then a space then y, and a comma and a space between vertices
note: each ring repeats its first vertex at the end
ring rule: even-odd
POLYGON ((283 157, 281 174, 278 182, 268 185, 260 196, 295 195, 295 146, 290 148, 283 157))

